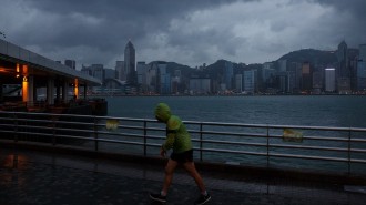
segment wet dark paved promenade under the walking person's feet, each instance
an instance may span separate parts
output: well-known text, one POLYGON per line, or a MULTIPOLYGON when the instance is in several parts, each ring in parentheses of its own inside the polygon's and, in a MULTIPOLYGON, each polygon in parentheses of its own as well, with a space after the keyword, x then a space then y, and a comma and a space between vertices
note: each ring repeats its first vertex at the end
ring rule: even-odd
MULTIPOLYGON (((0 146, 0 204, 143 205, 160 191, 162 163, 141 163, 0 146)), ((199 166, 200 170, 200 166, 199 166)), ((362 205, 363 186, 231 174, 201 170, 212 199, 207 204, 362 205), (358 192, 349 192, 356 189, 358 192)), ((364 193, 363 193, 364 192, 364 193)), ((166 204, 193 204, 197 188, 177 171, 166 204)))

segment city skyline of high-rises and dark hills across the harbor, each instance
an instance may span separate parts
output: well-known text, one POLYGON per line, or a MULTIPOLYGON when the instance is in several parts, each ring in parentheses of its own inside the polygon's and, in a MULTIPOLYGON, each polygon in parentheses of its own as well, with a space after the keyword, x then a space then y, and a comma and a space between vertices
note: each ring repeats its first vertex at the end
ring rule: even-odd
MULTIPOLYGON (((131 41, 125 49, 125 59, 134 58, 131 41), (131 55, 132 48, 132 55, 131 55)), ((299 50, 283 55, 279 60, 263 64, 246 65, 226 60, 192 69, 174 62, 138 62, 133 79, 126 68, 100 72, 99 64, 82 72, 99 73, 103 85, 96 93, 113 94, 365 94, 366 44, 349 49, 345 41, 336 51, 314 49, 299 50), (170 65, 169 65, 170 64, 170 65), (108 72, 110 74, 108 74, 108 72), (120 73, 118 73, 120 72, 120 73), (122 72, 122 75, 121 75, 122 72), (182 74, 184 72, 184 74, 182 74), (102 75, 101 75, 102 74, 102 75), (116 76, 119 76, 116 79, 116 76), (121 78, 122 76, 122 78, 121 78), (134 83, 138 82, 138 83, 134 83), (105 89, 105 90, 104 90, 105 89)))

